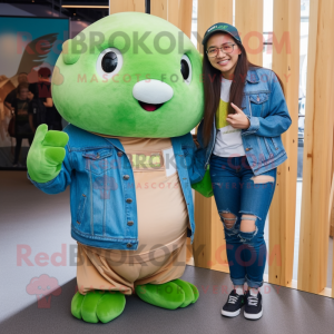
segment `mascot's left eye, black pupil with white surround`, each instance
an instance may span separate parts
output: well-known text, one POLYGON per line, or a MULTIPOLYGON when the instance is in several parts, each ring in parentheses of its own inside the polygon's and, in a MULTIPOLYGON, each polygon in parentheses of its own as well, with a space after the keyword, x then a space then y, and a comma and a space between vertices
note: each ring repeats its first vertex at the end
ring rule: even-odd
POLYGON ((105 49, 97 59, 96 71, 104 80, 109 80, 119 72, 122 60, 122 55, 118 49, 105 49))

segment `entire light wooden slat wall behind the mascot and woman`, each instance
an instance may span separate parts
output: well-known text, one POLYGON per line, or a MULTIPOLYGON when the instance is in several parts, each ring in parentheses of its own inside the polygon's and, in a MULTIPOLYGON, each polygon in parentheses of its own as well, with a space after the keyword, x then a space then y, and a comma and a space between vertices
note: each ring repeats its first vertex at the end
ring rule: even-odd
MULTIPOLYGON (((191 6, 193 0, 153 0, 151 13, 167 19, 190 37, 191 6)), ((291 53, 274 47, 273 70, 284 82, 293 125, 283 135, 288 160, 278 167, 276 193, 269 212, 268 253, 272 257, 278 255, 282 262, 279 265, 274 259, 271 264, 269 282, 286 286, 292 281, 294 253, 299 6, 299 1, 274 0, 274 33, 279 43, 283 33, 288 31, 291 53)), ((110 14, 120 11, 145 12, 145 0, 110 1, 110 14)), ((233 23, 233 0, 198 0, 197 40, 200 52, 204 32, 217 22, 233 23)), ((249 60, 262 65, 263 53, 259 50, 263 46, 256 36, 263 32, 263 0, 236 0, 235 26, 240 32, 249 60)), ((328 140, 334 138, 334 63, 331 60, 334 45, 327 42, 333 31, 334 0, 311 1, 297 287, 312 293, 321 293, 326 286, 328 233, 334 233, 334 188, 331 194, 331 185, 334 183, 334 144, 328 140), (330 229, 330 220, 333 230, 330 229)), ((224 230, 214 198, 205 198, 196 193, 195 219, 195 265, 228 272, 224 230)), ((334 287, 334 272, 332 285, 334 287)))

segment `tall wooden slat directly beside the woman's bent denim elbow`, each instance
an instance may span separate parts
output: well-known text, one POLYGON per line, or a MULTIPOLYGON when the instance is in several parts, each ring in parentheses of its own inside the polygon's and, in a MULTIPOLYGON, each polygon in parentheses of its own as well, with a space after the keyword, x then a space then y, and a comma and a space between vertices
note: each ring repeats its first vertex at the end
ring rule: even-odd
POLYGON ((274 0, 274 36, 272 69, 284 85, 292 118, 282 135, 287 160, 277 168, 276 190, 269 209, 269 283, 289 286, 293 278, 295 243, 296 181, 298 157, 298 87, 301 1, 274 0), (288 35, 286 35, 288 31, 288 35), (286 41, 278 47, 279 41, 286 41))

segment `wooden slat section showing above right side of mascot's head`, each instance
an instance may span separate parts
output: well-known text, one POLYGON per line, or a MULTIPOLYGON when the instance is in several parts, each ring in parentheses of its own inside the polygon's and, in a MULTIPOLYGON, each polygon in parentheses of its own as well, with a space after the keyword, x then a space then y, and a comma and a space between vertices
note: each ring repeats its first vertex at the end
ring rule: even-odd
POLYGON ((151 0, 150 13, 173 23, 190 38, 193 0, 151 0))

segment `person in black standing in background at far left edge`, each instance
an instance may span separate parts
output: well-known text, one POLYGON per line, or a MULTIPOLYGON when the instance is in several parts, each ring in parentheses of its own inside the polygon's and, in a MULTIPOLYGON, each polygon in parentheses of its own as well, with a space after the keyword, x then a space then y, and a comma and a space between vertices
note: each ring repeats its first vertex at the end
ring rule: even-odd
POLYGON ((28 114, 30 99, 29 96, 29 84, 21 82, 17 88, 17 97, 12 101, 12 109, 16 118, 16 151, 13 167, 18 167, 20 150, 22 146, 22 139, 28 138, 29 145, 33 139, 33 130, 31 124, 31 117, 28 114))

